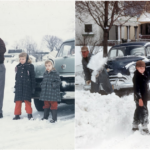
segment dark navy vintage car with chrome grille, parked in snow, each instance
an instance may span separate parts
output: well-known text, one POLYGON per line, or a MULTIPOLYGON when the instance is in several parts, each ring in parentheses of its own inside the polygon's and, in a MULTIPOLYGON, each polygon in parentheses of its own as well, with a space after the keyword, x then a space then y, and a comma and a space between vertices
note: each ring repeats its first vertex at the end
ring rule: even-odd
POLYGON ((132 92, 132 78, 138 60, 150 71, 150 42, 130 42, 113 46, 108 53, 106 69, 114 91, 132 92))

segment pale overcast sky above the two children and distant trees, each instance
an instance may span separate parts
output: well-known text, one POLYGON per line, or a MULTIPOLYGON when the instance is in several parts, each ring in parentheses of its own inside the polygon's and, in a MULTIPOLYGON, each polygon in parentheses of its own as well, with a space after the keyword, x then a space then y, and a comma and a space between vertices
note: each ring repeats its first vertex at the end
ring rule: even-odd
POLYGON ((41 46, 44 35, 63 40, 74 38, 75 2, 73 1, 0 1, 0 37, 11 48, 26 36, 41 46))

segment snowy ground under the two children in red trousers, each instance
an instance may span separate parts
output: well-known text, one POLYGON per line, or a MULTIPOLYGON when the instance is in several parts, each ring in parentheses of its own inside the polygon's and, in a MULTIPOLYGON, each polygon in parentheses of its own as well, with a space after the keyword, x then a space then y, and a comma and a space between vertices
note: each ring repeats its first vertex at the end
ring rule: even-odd
POLYGON ((5 64, 6 85, 3 114, 0 119, 0 149, 73 149, 74 148, 74 106, 59 104, 56 124, 41 121, 43 112, 38 112, 32 101, 33 117, 28 120, 25 105, 22 104, 21 120, 14 121, 14 68, 17 63, 5 64))

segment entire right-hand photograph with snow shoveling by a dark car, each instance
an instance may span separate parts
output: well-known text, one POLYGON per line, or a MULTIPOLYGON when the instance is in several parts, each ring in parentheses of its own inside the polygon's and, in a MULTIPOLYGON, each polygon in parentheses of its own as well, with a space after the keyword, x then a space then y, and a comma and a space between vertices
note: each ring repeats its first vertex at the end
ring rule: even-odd
POLYGON ((149 149, 150 2, 75 11, 76 149, 149 149))

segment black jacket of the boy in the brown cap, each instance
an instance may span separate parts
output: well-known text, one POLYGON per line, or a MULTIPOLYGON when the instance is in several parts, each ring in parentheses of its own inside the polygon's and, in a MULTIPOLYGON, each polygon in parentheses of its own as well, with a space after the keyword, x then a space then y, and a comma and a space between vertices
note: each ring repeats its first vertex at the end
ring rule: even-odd
POLYGON ((142 99, 144 105, 147 106, 148 91, 149 91, 149 72, 145 71, 142 75, 137 70, 134 72, 133 77, 133 89, 134 89, 134 100, 138 104, 139 99, 142 99))

